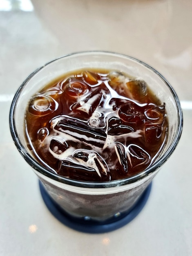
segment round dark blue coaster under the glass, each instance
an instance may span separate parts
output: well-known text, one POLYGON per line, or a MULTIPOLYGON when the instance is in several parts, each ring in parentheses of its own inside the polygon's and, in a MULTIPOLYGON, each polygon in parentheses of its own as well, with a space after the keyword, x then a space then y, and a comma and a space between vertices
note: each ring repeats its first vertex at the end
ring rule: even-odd
POLYGON ((99 234, 119 229, 131 222, 145 206, 151 192, 152 183, 150 183, 150 185, 145 189, 141 198, 131 211, 129 210, 128 212, 122 213, 119 217, 113 217, 110 220, 102 222, 85 220, 84 218, 76 218, 69 215, 49 196, 40 181, 39 186, 42 199, 44 200, 47 208, 60 222, 77 231, 99 234))

